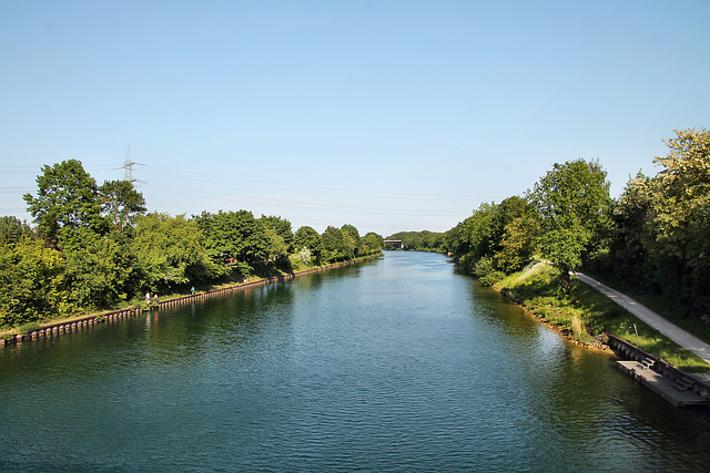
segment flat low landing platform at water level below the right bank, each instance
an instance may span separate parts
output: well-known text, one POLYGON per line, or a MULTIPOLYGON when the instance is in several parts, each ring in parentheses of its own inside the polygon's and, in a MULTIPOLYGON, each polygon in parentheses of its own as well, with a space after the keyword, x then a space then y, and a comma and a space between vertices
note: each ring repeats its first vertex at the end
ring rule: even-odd
POLYGON ((691 387, 679 380, 673 381, 663 377, 643 362, 617 361, 617 367, 676 407, 710 405, 710 401, 698 394, 691 387))

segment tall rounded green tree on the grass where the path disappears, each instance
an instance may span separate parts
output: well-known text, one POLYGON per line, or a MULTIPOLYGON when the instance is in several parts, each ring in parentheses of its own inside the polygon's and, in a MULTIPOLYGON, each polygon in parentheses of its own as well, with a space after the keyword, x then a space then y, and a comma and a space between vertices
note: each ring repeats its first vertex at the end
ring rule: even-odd
POLYGON ((586 254, 605 246, 609 238, 609 186, 599 162, 577 160, 556 163, 528 193, 541 216, 537 243, 559 268, 565 290, 569 271, 578 269, 586 254))

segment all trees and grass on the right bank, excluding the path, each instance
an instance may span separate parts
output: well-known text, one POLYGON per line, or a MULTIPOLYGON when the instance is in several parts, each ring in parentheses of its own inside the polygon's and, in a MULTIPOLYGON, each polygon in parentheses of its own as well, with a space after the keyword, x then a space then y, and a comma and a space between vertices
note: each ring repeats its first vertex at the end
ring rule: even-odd
POLYGON ((524 196, 481 204, 446 233, 400 233, 405 249, 450 254, 582 343, 617 333, 692 372, 708 363, 580 282, 584 269, 710 341, 710 132, 676 131, 660 172, 619 198, 598 161, 555 164, 524 196), (635 325, 638 328, 638 339, 635 325))

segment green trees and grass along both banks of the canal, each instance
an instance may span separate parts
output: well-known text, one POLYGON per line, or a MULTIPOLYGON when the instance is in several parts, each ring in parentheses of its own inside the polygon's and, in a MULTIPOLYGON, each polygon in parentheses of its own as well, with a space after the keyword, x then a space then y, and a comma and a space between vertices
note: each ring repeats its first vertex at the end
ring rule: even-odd
MULTIPOLYGON (((495 286, 584 343, 605 330, 682 369, 697 357, 580 284, 584 268, 699 338, 710 341, 710 132, 676 131, 669 153, 619 198, 598 161, 556 163, 524 196, 481 204, 446 233, 405 232, 406 249, 450 254, 462 270, 495 286), (545 263, 549 261, 551 263, 545 263)), ((288 220, 251 212, 186 218, 146 213, 131 183, 98 186, 78 161, 44 166, 37 226, 0 218, 0 328, 29 327, 89 310, 138 305, 145 291, 185 294, 378 254, 383 238, 352 225, 295 233, 288 220)))

